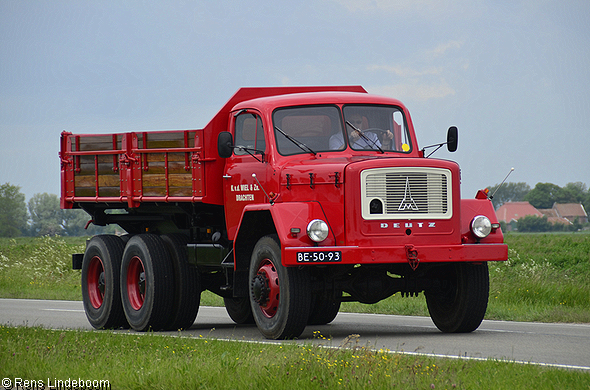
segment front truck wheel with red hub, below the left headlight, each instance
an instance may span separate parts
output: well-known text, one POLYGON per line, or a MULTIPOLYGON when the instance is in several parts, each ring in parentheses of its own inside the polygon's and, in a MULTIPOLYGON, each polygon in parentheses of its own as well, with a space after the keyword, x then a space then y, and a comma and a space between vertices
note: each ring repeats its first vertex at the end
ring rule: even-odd
POLYGON ((274 340, 299 337, 311 306, 309 272, 283 266, 276 235, 256 243, 249 280, 250 305, 260 333, 274 340))

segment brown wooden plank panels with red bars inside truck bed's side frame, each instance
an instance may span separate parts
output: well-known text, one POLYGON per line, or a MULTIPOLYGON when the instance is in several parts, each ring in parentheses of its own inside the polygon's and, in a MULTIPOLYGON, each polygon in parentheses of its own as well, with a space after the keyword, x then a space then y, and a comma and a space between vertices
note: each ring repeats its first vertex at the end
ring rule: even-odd
POLYGON ((195 173, 202 175, 193 161, 194 154, 202 151, 197 134, 202 136, 202 130, 72 135, 71 151, 83 153, 72 157, 73 195, 133 196, 144 201, 199 196, 193 178, 195 173), (131 192, 128 186, 133 187, 131 192))

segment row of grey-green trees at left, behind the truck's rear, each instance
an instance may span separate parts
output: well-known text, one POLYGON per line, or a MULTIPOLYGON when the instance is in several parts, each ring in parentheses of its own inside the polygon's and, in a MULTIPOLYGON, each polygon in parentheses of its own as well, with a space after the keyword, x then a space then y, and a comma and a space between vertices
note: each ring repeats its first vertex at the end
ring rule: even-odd
POLYGON ((19 186, 0 185, 0 237, 91 236, 115 230, 115 226, 92 224, 84 229, 90 219, 83 210, 60 209, 55 194, 35 194, 27 203, 19 186))

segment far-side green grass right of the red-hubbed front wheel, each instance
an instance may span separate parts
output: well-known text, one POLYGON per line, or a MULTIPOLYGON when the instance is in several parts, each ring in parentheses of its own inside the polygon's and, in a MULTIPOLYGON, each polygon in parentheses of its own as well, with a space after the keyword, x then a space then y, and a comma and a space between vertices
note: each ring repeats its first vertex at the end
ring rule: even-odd
MULTIPOLYGON (((590 234, 507 234, 506 262, 490 262, 487 319, 590 323, 590 234)), ((428 316, 424 295, 396 294, 342 311, 428 316)))

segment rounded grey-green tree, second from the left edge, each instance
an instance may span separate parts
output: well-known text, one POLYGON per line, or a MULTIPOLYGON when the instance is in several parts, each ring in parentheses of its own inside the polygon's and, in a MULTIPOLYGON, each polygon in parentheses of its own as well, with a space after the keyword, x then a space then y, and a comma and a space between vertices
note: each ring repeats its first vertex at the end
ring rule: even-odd
POLYGON ((35 194, 29 199, 31 216, 30 233, 33 236, 61 235, 63 233, 63 212, 55 194, 35 194))

